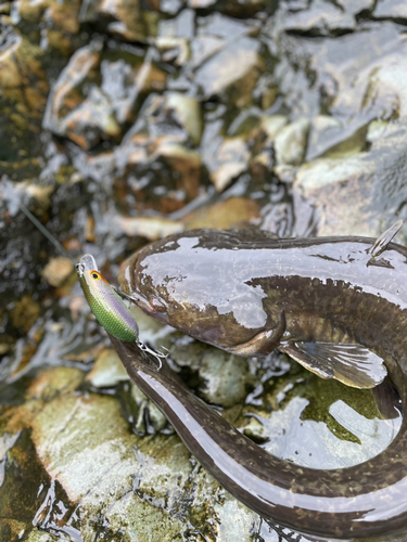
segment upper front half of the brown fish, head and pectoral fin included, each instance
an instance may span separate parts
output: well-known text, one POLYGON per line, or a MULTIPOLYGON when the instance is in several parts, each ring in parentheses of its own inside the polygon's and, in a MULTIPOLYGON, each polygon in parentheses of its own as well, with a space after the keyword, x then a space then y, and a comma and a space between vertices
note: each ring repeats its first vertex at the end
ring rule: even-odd
POLYGON ((369 388, 387 371, 406 379, 407 249, 386 238, 374 253, 367 237, 194 230, 136 253, 119 283, 200 340, 243 356, 278 348, 322 377, 369 388))

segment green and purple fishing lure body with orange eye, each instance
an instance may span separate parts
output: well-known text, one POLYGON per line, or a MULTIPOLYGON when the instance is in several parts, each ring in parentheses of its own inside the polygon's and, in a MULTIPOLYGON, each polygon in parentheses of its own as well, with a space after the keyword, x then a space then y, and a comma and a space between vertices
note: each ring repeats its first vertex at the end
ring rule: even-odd
POLYGON ((97 262, 86 254, 76 266, 79 283, 98 322, 114 337, 133 343, 139 328, 123 299, 98 271, 97 262))

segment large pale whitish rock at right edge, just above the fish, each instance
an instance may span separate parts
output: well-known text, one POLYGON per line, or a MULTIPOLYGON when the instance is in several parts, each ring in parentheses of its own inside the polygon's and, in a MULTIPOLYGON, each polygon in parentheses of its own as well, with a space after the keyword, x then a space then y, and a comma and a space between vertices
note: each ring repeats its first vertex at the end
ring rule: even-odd
POLYGON ((369 152, 302 166, 294 182, 296 214, 301 216, 304 206, 313 206, 319 235, 374 236, 404 218, 405 137, 404 126, 389 125, 369 152), (385 223, 382 217, 386 217, 385 223))

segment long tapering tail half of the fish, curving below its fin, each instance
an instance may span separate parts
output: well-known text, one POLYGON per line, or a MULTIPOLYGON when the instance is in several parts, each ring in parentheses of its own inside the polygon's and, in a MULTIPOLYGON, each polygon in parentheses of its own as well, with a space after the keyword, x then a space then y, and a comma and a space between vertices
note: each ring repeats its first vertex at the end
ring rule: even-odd
POLYGON ((137 386, 218 482, 264 518, 319 541, 406 540, 407 427, 380 455, 347 468, 307 468, 268 454, 179 380, 163 360, 111 337, 137 386))

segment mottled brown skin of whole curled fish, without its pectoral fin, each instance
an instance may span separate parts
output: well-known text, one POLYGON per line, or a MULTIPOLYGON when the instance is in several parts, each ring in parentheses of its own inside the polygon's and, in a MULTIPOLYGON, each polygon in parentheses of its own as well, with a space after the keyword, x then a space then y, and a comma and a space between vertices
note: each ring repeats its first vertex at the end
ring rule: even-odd
MULTIPOLYGON (((391 244, 371 261, 373 242, 192 231, 141 249, 123 267, 120 284, 158 320, 225 349, 274 327, 283 310, 282 343, 353 340, 372 349, 385 359, 405 405, 407 249, 391 244)), ((384 541, 407 533, 405 420, 377 457, 310 469, 264 452, 169 372, 143 371, 135 380, 190 451, 263 517, 323 539, 384 541)))

